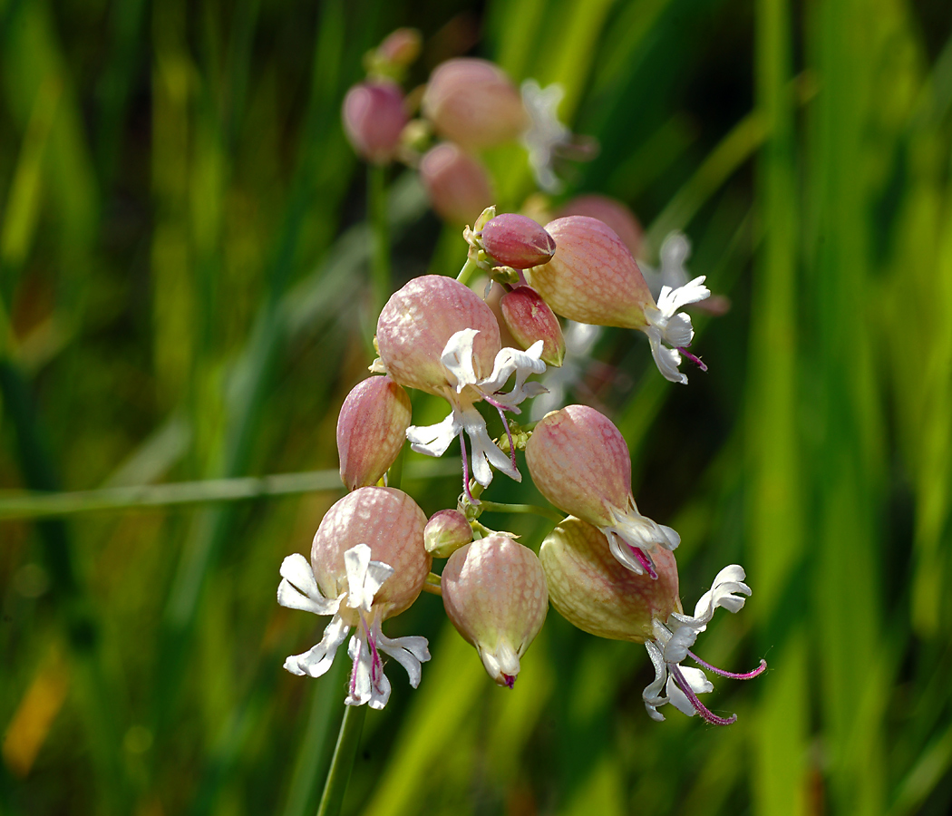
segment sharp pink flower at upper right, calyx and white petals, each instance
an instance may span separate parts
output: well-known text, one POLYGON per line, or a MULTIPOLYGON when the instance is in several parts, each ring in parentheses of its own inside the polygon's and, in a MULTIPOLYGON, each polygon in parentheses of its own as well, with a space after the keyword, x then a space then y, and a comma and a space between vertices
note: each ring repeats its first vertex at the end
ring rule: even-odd
POLYGON ((631 252, 605 222, 570 215, 545 230, 555 239, 555 255, 528 276, 552 310, 580 323, 644 331, 664 378, 686 384, 686 375, 678 370, 679 352, 688 353, 694 330, 690 317, 678 309, 710 295, 704 277, 680 289, 664 287, 655 303, 631 252))

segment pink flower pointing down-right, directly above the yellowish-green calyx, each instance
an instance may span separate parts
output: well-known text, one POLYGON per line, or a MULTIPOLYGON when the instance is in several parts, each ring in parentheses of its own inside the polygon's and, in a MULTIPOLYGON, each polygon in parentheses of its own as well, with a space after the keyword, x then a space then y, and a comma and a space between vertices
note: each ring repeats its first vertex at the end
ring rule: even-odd
POLYGON ((681 537, 638 511, 631 460, 618 428, 595 408, 568 406, 545 416, 526 444, 526 465, 557 508, 598 527, 626 568, 657 578, 654 555, 681 537))

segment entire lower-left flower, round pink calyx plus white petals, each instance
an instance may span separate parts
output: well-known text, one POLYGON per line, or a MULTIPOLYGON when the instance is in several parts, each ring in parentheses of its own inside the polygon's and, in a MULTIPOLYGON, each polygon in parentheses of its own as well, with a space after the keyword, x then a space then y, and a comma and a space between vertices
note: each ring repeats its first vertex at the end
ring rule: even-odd
POLYGON ((295 553, 281 565, 279 604, 333 616, 317 646, 288 657, 288 671, 320 677, 356 627, 347 647, 353 661, 348 706, 387 705, 381 652, 407 669, 412 687, 420 684, 420 665, 429 660, 426 638, 388 638, 380 625, 409 607, 426 582, 432 559, 423 545, 425 524, 416 503, 391 488, 360 488, 327 510, 310 564, 295 553))

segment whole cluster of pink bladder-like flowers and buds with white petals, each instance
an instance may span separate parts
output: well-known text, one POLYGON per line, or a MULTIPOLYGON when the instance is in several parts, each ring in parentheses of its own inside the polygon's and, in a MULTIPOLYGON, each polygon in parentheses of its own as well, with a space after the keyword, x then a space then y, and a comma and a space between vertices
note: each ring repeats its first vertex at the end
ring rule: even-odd
MULTIPOLYGON (((390 161, 410 144, 411 123, 395 83, 416 50, 412 32, 395 32, 368 55, 371 79, 347 96, 347 134, 369 162, 390 161)), ((531 82, 520 95, 502 71, 482 60, 444 63, 430 77, 421 109, 427 130, 445 141, 422 158, 421 173, 426 178, 435 164, 462 162, 477 178, 482 170, 473 172, 479 168, 474 156, 480 149, 521 138, 540 185, 554 188, 553 146, 569 139, 553 116, 560 98, 559 90, 531 82)), ((434 178, 443 171, 433 169, 434 178)), ((437 209, 444 193, 461 192, 460 177, 445 188, 432 180, 427 185, 437 209)), ((687 280, 684 274, 686 239, 665 244, 662 266, 668 277, 652 291, 634 257, 642 249, 641 229, 623 205, 586 196, 569 202, 554 220, 535 220, 484 209, 485 190, 477 195, 473 189, 452 205, 472 222, 464 230, 468 254, 459 277, 424 275, 390 296, 376 323, 379 356, 373 373, 341 408, 337 444, 349 492, 324 516, 309 563, 298 554, 285 559, 278 588, 283 606, 330 621, 320 642, 288 657, 285 667, 321 676, 353 630, 346 702, 385 706, 390 694, 385 655, 401 664, 417 687, 429 651, 425 638, 389 638, 382 624, 426 590, 442 596, 446 616, 476 648, 489 677, 512 688, 551 603, 586 632, 645 644, 655 669, 643 695, 652 718, 664 719, 659 709, 670 703, 708 723, 728 725, 733 717, 714 714, 699 699, 713 688, 702 669, 748 679, 765 663, 744 674, 727 672, 704 663, 691 648, 715 609, 737 612, 744 606, 750 595, 744 570, 737 565, 721 570, 694 614, 685 615, 673 552, 681 537, 639 511, 621 431, 605 414, 583 405, 557 403, 524 428, 509 419, 546 392, 549 368, 563 366, 560 318, 644 332, 657 367, 672 382, 687 382, 680 370, 683 355, 706 370, 686 351, 694 331, 680 309, 710 294, 704 277, 687 280), (483 273, 491 286, 480 287, 481 296, 469 283, 483 273), (446 418, 414 425, 407 389, 446 400, 446 418), (490 427, 499 429, 490 432, 490 427), (387 481, 388 474, 399 471, 394 466, 407 445, 438 457, 455 442, 463 472, 458 505, 439 509, 427 521, 416 502, 397 489, 396 476, 387 481), (538 555, 515 536, 479 521, 490 504, 480 497, 497 471, 522 480, 517 450, 525 451, 535 486, 565 514, 538 555), (430 571, 434 558, 446 559, 439 575, 430 571), (702 668, 682 666, 687 658, 702 668)), ((571 387, 565 379, 558 393, 571 387)))

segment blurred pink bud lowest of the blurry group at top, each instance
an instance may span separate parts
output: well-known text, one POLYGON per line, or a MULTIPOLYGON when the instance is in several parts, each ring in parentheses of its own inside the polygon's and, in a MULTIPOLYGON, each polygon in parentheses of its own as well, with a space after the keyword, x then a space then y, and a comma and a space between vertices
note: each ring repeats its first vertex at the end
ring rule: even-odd
POLYGON ((420 180, 436 214, 448 224, 471 224, 493 201, 486 169, 449 142, 426 152, 420 180))

